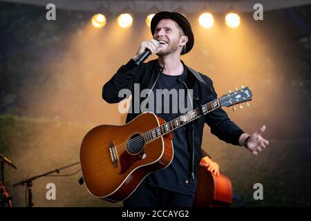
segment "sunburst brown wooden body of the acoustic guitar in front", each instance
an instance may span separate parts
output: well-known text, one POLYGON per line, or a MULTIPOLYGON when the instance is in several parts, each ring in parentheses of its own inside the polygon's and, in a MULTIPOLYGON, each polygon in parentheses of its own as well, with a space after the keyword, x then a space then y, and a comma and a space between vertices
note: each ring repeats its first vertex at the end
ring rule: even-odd
POLYGON ((142 113, 128 124, 101 125, 89 131, 80 150, 88 191, 97 198, 119 202, 149 173, 168 166, 173 160, 172 134, 149 143, 140 136, 164 123, 153 113, 142 113))

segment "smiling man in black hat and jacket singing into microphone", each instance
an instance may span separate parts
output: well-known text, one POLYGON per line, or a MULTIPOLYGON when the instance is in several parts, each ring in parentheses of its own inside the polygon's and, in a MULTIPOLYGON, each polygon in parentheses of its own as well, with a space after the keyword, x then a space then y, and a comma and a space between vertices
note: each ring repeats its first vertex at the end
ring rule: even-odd
MULTIPOLYGON (((130 122, 140 113, 147 111, 145 104, 149 97, 154 98, 153 102, 149 100, 149 106, 154 104, 154 108, 150 108, 149 111, 153 111, 166 121, 182 115, 180 105, 177 104, 183 103, 184 106, 194 109, 216 99, 211 79, 187 67, 180 60, 180 55, 186 54, 194 46, 194 34, 187 18, 178 12, 158 12, 151 20, 151 33, 153 39, 143 41, 136 55, 126 65, 121 66, 104 85, 102 95, 104 100, 109 103, 120 102, 126 98, 119 96, 120 90, 124 88, 131 90, 130 109, 138 105, 140 111, 139 113, 129 111, 126 122, 130 122), (158 55, 158 59, 136 65, 135 61, 146 48, 151 51, 151 55, 158 55), (149 89, 147 99, 138 95, 134 84, 139 84, 140 91, 149 89), (166 97, 168 101, 165 101, 165 97, 162 99, 163 96, 157 93, 160 89, 185 90, 187 93, 178 94, 177 99, 166 97), (136 97, 139 99, 135 99, 136 97), (135 104, 137 101, 139 104, 135 104), (176 105, 178 111, 174 112, 176 105)), ((124 206, 192 206, 198 165, 206 166, 207 169, 209 166, 207 157, 202 157, 200 147, 205 123, 210 126, 211 133, 220 140, 245 146, 254 154, 269 144, 261 137, 265 126, 248 135, 230 121, 223 109, 217 108, 173 131, 174 156, 171 164, 148 175, 133 194, 124 200, 124 206)))

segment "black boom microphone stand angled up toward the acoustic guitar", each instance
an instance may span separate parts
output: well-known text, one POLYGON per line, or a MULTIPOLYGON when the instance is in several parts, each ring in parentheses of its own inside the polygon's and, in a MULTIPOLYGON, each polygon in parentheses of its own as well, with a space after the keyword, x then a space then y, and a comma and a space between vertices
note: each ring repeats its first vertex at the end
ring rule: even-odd
POLYGON ((13 184, 13 186, 18 186, 18 185, 24 185, 26 184, 26 188, 27 188, 27 193, 28 193, 28 207, 32 207, 33 206, 33 203, 32 203, 32 180, 36 180, 37 178, 39 177, 44 177, 44 176, 47 176, 47 175, 50 175, 51 173, 59 173, 59 171, 62 171, 63 169, 66 169, 70 166, 74 166, 76 164, 79 164, 80 162, 75 162, 74 164, 70 164, 68 166, 64 166, 62 168, 59 168, 59 169, 55 169, 54 171, 49 171, 47 173, 42 173, 41 175, 36 175, 34 177, 29 177, 28 179, 26 180, 21 180, 20 182, 17 182, 15 184, 13 184))

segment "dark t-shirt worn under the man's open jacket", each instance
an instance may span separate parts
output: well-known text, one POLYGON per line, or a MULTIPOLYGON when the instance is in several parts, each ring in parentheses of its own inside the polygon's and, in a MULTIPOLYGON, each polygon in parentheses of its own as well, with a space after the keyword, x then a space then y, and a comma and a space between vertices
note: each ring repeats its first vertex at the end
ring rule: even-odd
MULTIPOLYGON (((183 81, 187 78, 187 68, 184 68, 182 75, 165 75, 160 73, 156 85, 153 87, 154 95, 154 113, 169 122, 171 119, 187 113, 187 106, 191 108, 189 95, 183 81), (159 89, 170 90, 171 93, 177 92, 178 102, 173 95, 162 95, 162 104, 157 106, 157 100, 160 93, 159 89), (172 89, 176 90, 173 91, 172 89), (184 90, 185 93, 182 93, 184 90), (169 100, 167 100, 169 99, 169 100), (169 104, 169 107, 167 106, 169 104), (177 104, 177 105, 176 105, 177 104), (161 110, 162 109, 162 110, 161 110), (176 111, 177 110, 177 111, 176 111), (164 111, 169 111, 165 113, 164 111)), ((159 102, 159 101, 158 101, 159 102)), ((158 103, 159 104, 159 103, 158 103)), ((196 189, 196 180, 189 178, 189 141, 187 140, 187 124, 173 131, 173 161, 169 166, 160 171, 155 171, 147 177, 147 184, 160 187, 169 191, 194 195, 196 189)))

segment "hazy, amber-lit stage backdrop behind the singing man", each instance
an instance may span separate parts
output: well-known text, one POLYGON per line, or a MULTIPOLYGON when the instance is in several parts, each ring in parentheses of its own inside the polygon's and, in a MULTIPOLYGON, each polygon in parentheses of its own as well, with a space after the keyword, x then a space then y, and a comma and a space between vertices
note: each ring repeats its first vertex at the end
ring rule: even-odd
MULTIPOLYGON (((5 168, 13 206, 25 206, 26 195, 25 186, 13 183, 78 162, 91 128, 124 123, 117 104, 102 99, 102 86, 151 39, 142 13, 131 28, 119 28, 111 15, 95 30, 92 12, 57 9, 57 20, 47 21, 46 11, 0 2, 0 153, 18 167, 5 168)), ((243 12, 234 30, 223 23, 223 13, 213 14, 211 30, 199 26, 197 14, 186 14, 196 42, 182 60, 211 77, 218 95, 249 86, 252 106, 225 110, 247 133, 266 125, 270 146, 252 155, 205 126, 202 148, 232 180, 232 206, 310 206, 311 6, 270 10, 263 21, 243 12), (263 184, 263 200, 253 198, 256 183, 263 184)), ((81 175, 35 180, 35 206, 122 206, 94 198, 77 183, 81 175), (50 182, 57 200, 46 200, 50 182)))

